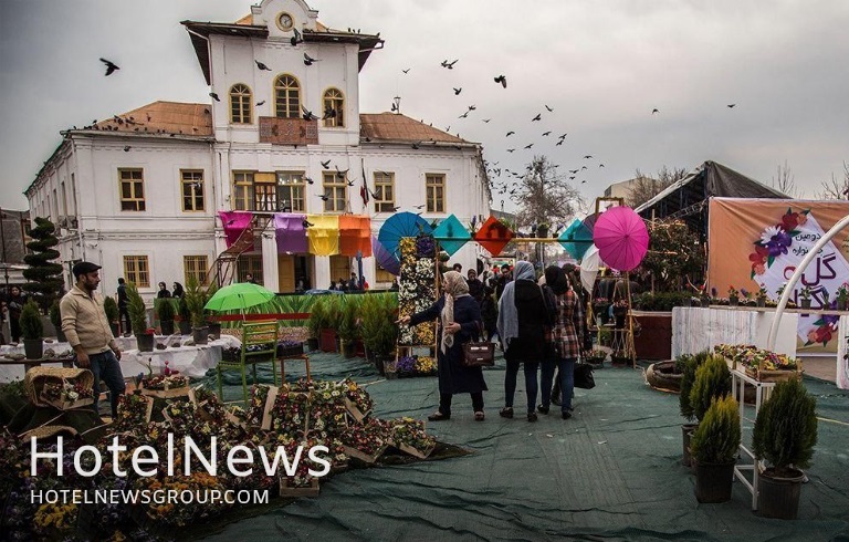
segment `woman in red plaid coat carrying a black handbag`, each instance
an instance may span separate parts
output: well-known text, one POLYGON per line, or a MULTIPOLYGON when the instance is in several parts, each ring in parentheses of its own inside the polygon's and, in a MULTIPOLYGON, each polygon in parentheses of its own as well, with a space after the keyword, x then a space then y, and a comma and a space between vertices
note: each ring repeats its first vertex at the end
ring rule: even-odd
POLYGON ((572 393, 575 387, 575 361, 580 355, 584 312, 578 295, 572 289, 566 273, 557 265, 545 270, 545 282, 554 294, 555 319, 552 326, 553 348, 549 356, 543 359, 541 386, 542 404, 537 407, 542 414, 548 414, 552 403, 552 382, 554 369, 557 368, 560 390, 560 416, 572 417, 572 393))

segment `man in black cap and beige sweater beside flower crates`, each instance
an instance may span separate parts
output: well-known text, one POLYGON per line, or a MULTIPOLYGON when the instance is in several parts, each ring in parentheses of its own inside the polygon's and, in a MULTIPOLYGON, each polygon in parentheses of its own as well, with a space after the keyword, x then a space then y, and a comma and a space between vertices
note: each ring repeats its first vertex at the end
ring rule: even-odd
POLYGON ((101 379, 109 388, 112 417, 118 415, 118 396, 124 395, 124 375, 120 372, 120 348, 112 335, 103 310, 103 296, 96 292, 101 278, 99 265, 82 261, 73 267, 76 283, 59 304, 62 331, 76 355, 76 365, 94 374, 94 411, 99 413, 101 379))

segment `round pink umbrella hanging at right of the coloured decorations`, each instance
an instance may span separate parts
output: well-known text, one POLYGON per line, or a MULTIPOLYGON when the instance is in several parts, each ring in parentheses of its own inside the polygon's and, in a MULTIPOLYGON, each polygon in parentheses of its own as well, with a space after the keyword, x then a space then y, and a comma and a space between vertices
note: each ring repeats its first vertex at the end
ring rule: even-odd
POLYGON ((649 249, 649 231, 630 207, 611 207, 598 217, 593 240, 601 260, 619 271, 630 271, 649 249))

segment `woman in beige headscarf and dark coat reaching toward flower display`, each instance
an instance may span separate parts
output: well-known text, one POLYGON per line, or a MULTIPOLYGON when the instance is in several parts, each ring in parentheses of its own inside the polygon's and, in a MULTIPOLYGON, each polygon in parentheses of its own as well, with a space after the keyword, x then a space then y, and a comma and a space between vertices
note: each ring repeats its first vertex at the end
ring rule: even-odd
POLYGON ((443 275, 442 296, 429 309, 405 316, 400 324, 418 325, 439 319, 437 367, 439 374, 439 410, 428 416, 431 421, 451 418, 451 398, 454 394, 470 394, 474 419, 483 421, 483 392, 486 383, 481 367, 464 367, 463 344, 478 340, 481 332, 481 308, 469 295, 463 275, 449 271, 443 275))

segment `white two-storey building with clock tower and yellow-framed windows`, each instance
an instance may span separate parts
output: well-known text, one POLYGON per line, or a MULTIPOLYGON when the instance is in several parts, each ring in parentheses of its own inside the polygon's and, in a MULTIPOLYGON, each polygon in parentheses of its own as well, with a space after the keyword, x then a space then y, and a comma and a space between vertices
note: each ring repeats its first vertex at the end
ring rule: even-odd
MULTIPOLYGON (((220 101, 155 102, 63 132, 25 191, 33 217, 62 227, 63 262, 103 265, 104 291, 118 277, 148 298, 159 281, 202 279, 227 248, 220 210, 259 211, 259 226, 282 210, 369 215, 375 236, 396 209, 464 223, 490 213, 479 144, 359 112, 359 73, 378 35, 328 29, 302 0, 263 0, 235 23, 182 24, 220 101), (377 196, 368 205, 364 176, 377 196)), ((277 254, 271 227, 255 239, 238 254, 238 279, 250 272, 273 291, 296 280, 327 288, 356 269, 348 257, 277 254)), ((479 250, 471 242, 452 262, 468 269, 479 250)), ((373 286, 392 280, 373 258, 364 272, 373 286)))

